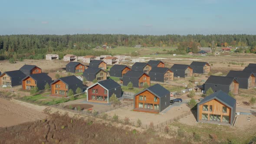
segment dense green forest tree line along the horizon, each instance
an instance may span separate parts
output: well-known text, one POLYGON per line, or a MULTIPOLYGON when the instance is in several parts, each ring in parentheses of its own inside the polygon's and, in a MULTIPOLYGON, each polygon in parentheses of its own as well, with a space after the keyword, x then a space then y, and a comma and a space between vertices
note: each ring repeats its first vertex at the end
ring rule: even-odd
MULTIPOLYGON (((107 52, 95 52, 97 46, 176 47, 184 51, 187 47, 247 47, 256 52, 256 35, 123 35, 123 34, 75 34, 75 35, 5 35, 0 36, 0 59, 43 59, 46 53, 61 56, 67 52, 101 55, 107 52)), ((73 53, 75 54, 75 53, 73 53)), ((61 58, 60 56, 60 58, 61 58)))

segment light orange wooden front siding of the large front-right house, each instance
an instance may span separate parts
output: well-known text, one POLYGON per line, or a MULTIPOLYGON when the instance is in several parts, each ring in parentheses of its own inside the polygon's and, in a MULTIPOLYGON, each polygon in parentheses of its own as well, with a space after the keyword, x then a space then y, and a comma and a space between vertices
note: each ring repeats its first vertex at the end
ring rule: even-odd
MULTIPOLYGON (((213 115, 220 115, 220 121, 222 122, 222 116, 223 115, 228 115, 231 118, 231 108, 227 107, 226 108, 226 113, 223 113, 223 107, 227 107, 226 105, 224 105, 223 103, 221 103, 220 101, 218 101, 217 99, 213 99, 211 101, 208 101, 202 105, 199 105, 199 120, 202 119, 202 113, 203 114, 208 114, 208 121, 210 121, 210 114, 213 115), (208 111, 203 111, 203 105, 208 105, 208 111), (212 111, 210 111, 210 105, 213 106, 212 111)), ((230 123, 230 119, 229 119, 229 123, 230 123)))

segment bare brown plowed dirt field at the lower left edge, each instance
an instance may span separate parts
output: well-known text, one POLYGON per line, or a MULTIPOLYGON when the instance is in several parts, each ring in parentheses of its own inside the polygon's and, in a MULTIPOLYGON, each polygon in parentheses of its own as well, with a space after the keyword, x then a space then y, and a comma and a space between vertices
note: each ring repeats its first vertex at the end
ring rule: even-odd
POLYGON ((0 127, 9 127, 28 121, 36 121, 46 118, 47 115, 42 113, 42 109, 36 106, 22 104, 18 101, 8 101, 0 98, 0 127))

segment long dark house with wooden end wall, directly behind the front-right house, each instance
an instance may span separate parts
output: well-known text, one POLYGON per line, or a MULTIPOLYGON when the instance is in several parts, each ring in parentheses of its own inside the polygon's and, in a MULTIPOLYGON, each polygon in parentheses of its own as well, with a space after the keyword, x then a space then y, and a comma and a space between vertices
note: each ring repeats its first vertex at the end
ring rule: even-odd
POLYGON ((210 75, 204 84, 204 93, 206 93, 209 88, 212 88, 213 92, 222 90, 227 94, 229 92, 239 94, 239 82, 233 77, 210 75))

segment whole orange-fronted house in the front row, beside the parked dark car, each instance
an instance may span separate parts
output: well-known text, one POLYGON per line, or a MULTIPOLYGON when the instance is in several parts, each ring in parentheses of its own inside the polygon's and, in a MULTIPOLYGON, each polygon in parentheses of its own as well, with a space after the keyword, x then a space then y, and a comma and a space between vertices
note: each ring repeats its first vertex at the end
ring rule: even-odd
POLYGON ((159 84, 134 95, 133 111, 159 113, 170 105, 170 91, 159 84))

